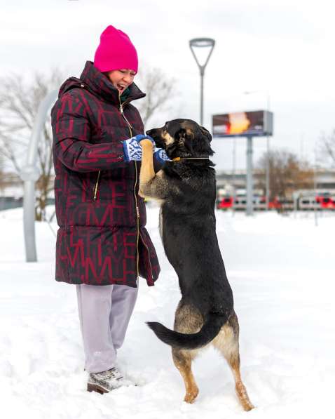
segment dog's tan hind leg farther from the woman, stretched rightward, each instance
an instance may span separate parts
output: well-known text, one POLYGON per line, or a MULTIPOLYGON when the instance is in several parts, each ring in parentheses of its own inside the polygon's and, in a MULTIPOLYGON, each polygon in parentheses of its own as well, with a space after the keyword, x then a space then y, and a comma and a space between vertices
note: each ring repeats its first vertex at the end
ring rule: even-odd
POLYGON ((238 317, 235 312, 229 317, 226 324, 221 328, 219 335, 212 341, 214 347, 226 358, 235 380, 235 390, 245 411, 250 411, 254 406, 249 400, 245 385, 242 383, 240 373, 240 352, 238 347, 238 317))

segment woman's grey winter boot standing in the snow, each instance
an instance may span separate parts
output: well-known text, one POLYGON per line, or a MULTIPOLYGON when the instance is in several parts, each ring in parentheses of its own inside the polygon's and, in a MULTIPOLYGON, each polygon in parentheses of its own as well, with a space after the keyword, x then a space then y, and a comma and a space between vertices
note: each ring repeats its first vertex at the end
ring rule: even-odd
POLYGON ((123 385, 133 385, 130 380, 123 378, 123 375, 114 366, 108 371, 101 373, 90 373, 88 376, 87 391, 97 392, 100 394, 109 393, 123 385))

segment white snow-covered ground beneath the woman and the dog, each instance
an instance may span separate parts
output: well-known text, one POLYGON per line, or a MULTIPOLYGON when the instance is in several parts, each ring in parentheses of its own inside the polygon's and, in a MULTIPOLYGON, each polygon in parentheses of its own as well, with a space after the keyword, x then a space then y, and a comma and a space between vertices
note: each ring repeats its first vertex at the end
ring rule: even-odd
MULTIPOLYGON (((55 237, 36 224, 39 262, 26 263, 22 208, 0 212, 0 412, 24 419, 334 418, 335 214, 217 213, 217 234, 240 321, 242 378, 257 408, 242 411, 224 359, 210 349, 193 364, 200 394, 184 403, 170 348, 145 321, 172 326, 179 289, 158 235, 148 230, 162 272, 144 281, 119 352, 139 383, 86 392, 74 286, 54 281, 55 237)), ((53 229, 57 226, 53 224, 53 229)))

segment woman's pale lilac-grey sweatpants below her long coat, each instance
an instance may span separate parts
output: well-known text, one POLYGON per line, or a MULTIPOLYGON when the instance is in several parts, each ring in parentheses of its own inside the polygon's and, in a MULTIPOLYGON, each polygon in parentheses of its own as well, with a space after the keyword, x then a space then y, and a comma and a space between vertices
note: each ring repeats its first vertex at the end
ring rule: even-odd
POLYGON ((115 366, 137 299, 137 288, 125 285, 76 285, 85 366, 100 373, 115 366))

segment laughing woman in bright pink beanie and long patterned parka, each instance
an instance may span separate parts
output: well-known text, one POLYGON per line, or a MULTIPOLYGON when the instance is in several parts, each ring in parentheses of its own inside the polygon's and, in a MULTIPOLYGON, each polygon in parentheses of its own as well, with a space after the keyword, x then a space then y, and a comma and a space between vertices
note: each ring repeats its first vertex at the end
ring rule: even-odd
POLYGON ((138 278, 153 286, 160 271, 138 195, 139 141, 147 136, 130 103, 145 96, 135 74, 135 47, 109 26, 94 63, 62 84, 51 112, 60 227, 55 277, 76 284, 88 391, 101 393, 129 384, 116 368, 116 353, 138 278))

